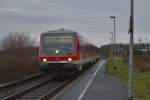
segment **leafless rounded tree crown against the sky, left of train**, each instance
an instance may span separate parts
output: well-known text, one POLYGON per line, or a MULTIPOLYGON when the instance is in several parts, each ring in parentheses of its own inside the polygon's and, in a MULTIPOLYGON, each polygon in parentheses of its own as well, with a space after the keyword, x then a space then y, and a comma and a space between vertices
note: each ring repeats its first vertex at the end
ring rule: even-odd
POLYGON ((35 39, 25 32, 11 32, 1 40, 1 48, 3 50, 33 47, 34 44, 35 39))

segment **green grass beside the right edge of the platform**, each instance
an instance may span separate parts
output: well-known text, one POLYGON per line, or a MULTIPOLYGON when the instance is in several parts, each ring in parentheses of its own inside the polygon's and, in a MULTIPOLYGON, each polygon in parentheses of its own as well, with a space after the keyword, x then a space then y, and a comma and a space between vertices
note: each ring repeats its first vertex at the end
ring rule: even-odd
MULTIPOLYGON (((128 85, 128 64, 121 58, 116 58, 116 67, 113 69, 112 60, 108 58, 106 73, 119 77, 124 84, 128 85)), ((150 71, 140 71, 134 68, 134 95, 136 100, 150 100, 150 71)))

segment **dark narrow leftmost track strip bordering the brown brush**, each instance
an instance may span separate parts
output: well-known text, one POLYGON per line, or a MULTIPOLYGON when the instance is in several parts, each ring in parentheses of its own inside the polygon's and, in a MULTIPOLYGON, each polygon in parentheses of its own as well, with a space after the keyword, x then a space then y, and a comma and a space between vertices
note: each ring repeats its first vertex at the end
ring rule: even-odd
POLYGON ((37 74, 27 79, 23 79, 21 81, 17 81, 12 84, 0 87, 0 100, 12 94, 15 94, 19 91, 22 91, 27 87, 32 87, 42 81, 48 80, 49 78, 50 78, 49 75, 37 74))

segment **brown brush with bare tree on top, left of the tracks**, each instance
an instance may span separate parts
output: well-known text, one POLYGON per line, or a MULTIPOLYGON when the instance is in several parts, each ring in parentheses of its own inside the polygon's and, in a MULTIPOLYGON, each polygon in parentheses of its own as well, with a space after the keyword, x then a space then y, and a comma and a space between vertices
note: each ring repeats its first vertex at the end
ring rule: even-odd
POLYGON ((38 47, 28 33, 11 32, 0 41, 0 84, 39 73, 38 47))

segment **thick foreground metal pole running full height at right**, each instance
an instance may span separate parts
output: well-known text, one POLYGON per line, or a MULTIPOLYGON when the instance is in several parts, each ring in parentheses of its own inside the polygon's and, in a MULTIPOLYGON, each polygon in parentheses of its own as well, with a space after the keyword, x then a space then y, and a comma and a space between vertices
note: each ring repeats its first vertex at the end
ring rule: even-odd
POLYGON ((134 33, 134 0, 130 0, 130 48, 129 48, 129 80, 128 80, 128 100, 133 100, 133 33, 134 33))

